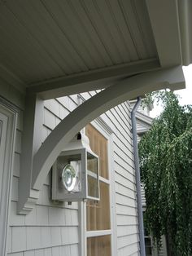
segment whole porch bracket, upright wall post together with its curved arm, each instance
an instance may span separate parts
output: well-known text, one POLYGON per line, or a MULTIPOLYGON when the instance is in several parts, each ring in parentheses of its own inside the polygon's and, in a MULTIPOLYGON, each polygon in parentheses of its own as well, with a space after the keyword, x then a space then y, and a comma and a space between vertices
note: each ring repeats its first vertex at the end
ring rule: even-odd
POLYGON ((24 152, 21 161, 18 211, 26 214, 33 208, 38 192, 59 153, 87 123, 110 108, 138 95, 164 88, 177 90, 184 87, 185 78, 181 66, 126 78, 86 100, 52 130, 41 146, 39 133, 42 111, 39 113, 39 110, 43 108, 43 103, 40 99, 34 100, 32 96, 28 96, 24 117, 24 152))

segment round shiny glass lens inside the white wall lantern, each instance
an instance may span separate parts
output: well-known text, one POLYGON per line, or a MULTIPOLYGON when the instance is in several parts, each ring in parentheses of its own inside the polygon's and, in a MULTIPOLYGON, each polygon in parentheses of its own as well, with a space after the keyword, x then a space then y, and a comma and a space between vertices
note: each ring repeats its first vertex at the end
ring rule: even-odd
POLYGON ((76 185, 76 170, 71 165, 66 165, 63 168, 62 172, 62 182, 64 187, 68 191, 72 191, 72 189, 76 185))

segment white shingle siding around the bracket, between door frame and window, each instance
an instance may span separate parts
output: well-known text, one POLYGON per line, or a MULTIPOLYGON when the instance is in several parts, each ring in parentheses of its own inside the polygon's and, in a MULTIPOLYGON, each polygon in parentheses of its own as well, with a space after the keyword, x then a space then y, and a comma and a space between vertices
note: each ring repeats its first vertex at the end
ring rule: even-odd
MULTIPOLYGON (((61 103, 57 99, 45 101, 42 142, 59 121, 74 108, 76 108, 76 104, 69 97, 65 97, 61 103)), ((22 119, 23 113, 20 113, 15 139, 11 210, 7 237, 8 255, 77 256, 79 255, 78 204, 74 202, 72 205, 68 205, 67 202, 63 202, 55 205, 50 201, 49 175, 41 188, 39 200, 32 212, 26 216, 16 214, 23 130, 22 119)))

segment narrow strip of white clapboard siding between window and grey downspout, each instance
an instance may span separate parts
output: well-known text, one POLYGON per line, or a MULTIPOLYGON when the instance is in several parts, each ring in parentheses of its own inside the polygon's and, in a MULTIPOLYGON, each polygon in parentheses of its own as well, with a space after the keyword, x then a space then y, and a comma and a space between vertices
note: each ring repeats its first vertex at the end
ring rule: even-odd
POLYGON ((111 109, 102 117, 114 130, 118 255, 137 255, 137 201, 129 104, 124 103, 115 110, 111 109))

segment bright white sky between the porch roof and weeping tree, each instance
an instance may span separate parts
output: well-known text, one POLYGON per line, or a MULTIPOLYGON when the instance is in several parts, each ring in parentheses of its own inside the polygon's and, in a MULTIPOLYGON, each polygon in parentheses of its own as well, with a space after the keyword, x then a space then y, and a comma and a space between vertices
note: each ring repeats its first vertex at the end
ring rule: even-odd
MULTIPOLYGON (((175 93, 180 95, 181 99, 179 99, 179 102, 181 105, 192 104, 192 64, 187 67, 183 66, 183 73, 185 76, 186 88, 182 90, 175 90, 175 93)), ((150 116, 157 117, 161 111, 162 107, 154 104, 154 109, 151 111, 150 116)))

